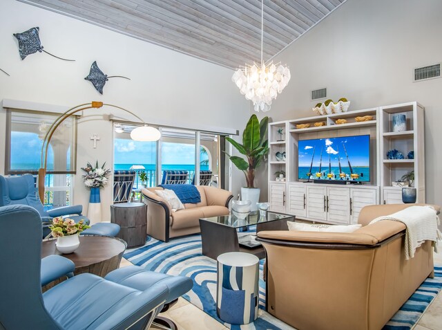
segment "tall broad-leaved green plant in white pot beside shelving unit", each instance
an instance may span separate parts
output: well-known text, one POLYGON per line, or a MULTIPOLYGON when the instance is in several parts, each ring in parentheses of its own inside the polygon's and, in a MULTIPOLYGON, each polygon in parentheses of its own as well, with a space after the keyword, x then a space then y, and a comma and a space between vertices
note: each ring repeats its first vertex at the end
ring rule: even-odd
POLYGON ((246 128, 242 133, 242 144, 232 138, 226 138, 240 154, 246 156, 247 161, 239 156, 229 156, 231 162, 240 169, 246 176, 248 188, 254 188, 255 169, 260 165, 262 159, 269 153, 269 141, 267 140, 267 125, 269 117, 258 120, 255 114, 251 115, 246 128))

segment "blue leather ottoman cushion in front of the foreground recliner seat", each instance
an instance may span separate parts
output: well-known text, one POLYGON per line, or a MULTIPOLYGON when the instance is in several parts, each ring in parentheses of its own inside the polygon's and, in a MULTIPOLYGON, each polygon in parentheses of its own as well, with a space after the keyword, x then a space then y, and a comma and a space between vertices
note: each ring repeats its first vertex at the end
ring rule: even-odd
POLYGON ((144 269, 140 269, 137 266, 119 268, 104 278, 140 291, 144 291, 156 283, 164 284, 169 288, 169 297, 166 300, 166 304, 184 295, 193 286, 193 281, 189 277, 144 271, 144 269))

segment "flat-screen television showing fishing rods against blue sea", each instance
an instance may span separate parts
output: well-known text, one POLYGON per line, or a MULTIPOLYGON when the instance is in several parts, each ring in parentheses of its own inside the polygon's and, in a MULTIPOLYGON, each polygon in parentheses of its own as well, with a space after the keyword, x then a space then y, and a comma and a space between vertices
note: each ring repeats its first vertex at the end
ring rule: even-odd
POLYGON ((370 181, 370 136, 298 141, 298 178, 370 181))

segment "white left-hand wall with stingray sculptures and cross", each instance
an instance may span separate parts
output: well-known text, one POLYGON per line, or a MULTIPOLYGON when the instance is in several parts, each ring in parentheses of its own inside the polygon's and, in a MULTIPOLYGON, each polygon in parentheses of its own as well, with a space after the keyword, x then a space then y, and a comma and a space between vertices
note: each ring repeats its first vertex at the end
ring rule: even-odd
MULTIPOLYGON (((170 51, 111 30, 85 23, 13 0, 0 1, 0 100, 12 99, 73 107, 93 100, 129 109, 146 122, 181 127, 224 127, 242 129, 249 118, 249 103, 231 82, 233 71, 200 59, 170 51), (34 26, 40 28, 46 51, 75 59, 65 62, 45 53, 19 57, 17 40, 34 26), (97 61, 110 79, 100 95, 84 80, 97 61)), ((113 161, 111 122, 100 111, 89 110, 78 125, 77 171, 87 161, 113 161), (90 136, 101 140, 93 149, 90 136)), ((106 110, 106 113, 114 113, 106 110)), ((5 130, 5 112, 0 109, 0 131, 5 130)), ((133 118, 127 117, 133 120, 133 118)), ((4 172, 5 136, 0 134, 0 173, 4 172)), ((237 173, 233 173, 237 175, 237 173)), ((233 180, 236 194, 242 182, 233 180)), ((104 219, 109 218, 112 187, 102 191, 104 219)), ((88 190, 81 176, 75 178, 75 203, 87 205, 88 190)))

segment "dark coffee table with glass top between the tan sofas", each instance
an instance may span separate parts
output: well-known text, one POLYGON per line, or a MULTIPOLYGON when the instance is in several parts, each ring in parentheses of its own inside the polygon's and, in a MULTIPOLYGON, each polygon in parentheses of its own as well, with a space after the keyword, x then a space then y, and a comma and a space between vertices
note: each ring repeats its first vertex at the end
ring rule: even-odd
POLYGON ((288 230, 287 221, 295 216, 267 211, 251 212, 244 219, 233 214, 200 219, 202 254, 212 259, 227 252, 247 252, 262 259, 264 248, 256 241, 256 232, 262 230, 288 230), (256 225, 256 232, 253 230, 256 225), (252 231, 253 230, 253 231, 252 231))

